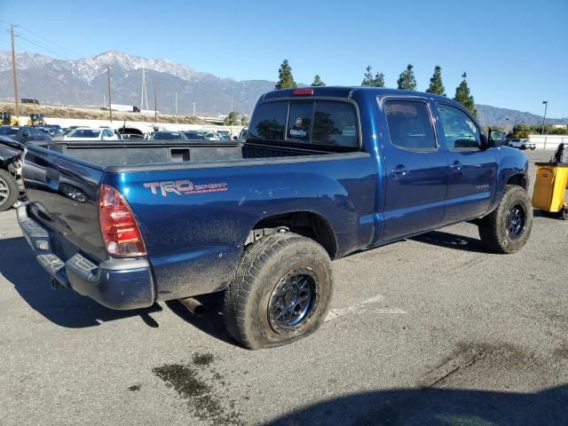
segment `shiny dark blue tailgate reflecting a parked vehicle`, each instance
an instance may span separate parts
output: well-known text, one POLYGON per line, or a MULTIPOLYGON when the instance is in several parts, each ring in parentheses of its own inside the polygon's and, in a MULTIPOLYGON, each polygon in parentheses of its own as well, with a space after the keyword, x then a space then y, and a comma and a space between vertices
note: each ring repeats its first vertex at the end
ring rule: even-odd
POLYGON ((78 251, 106 259, 99 227, 103 170, 39 146, 28 146, 22 175, 28 215, 50 233, 53 252, 64 261, 78 251))

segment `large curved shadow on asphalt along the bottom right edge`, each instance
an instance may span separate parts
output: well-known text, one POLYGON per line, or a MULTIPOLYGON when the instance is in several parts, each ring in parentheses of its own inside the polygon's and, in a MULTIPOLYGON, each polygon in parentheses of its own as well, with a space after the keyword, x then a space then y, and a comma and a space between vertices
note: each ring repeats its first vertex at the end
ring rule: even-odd
POLYGON ((271 426, 568 424, 568 386, 536 393, 486 390, 376 390, 327 399, 271 426))

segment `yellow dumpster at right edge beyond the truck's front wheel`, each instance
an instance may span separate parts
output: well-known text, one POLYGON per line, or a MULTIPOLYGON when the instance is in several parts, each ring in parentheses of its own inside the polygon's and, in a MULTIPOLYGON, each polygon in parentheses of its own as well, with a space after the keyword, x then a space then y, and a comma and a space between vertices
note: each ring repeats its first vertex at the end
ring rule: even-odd
POLYGON ((568 187, 568 164, 537 162, 534 182, 533 207, 550 213, 560 212, 568 219, 568 203, 564 193, 568 187))

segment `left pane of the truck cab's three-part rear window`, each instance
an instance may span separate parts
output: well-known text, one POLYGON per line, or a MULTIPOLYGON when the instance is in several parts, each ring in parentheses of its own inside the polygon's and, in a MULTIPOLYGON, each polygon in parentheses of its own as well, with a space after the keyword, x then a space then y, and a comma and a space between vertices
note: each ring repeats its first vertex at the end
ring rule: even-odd
POLYGON ((267 102, 256 106, 248 127, 248 138, 282 140, 286 127, 286 102, 267 102))

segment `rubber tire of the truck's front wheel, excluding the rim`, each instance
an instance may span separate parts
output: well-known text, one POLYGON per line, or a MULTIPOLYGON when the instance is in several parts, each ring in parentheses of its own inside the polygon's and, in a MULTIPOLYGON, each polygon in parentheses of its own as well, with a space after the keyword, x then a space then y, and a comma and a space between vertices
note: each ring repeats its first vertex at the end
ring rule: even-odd
POLYGON ((479 237, 489 251, 501 254, 516 253, 525 246, 533 228, 533 206, 525 188, 506 185, 497 209, 483 217, 478 226, 479 237), (521 204, 525 209, 525 230, 517 239, 509 237, 507 220, 509 209, 521 204))

